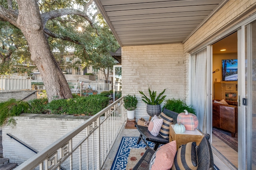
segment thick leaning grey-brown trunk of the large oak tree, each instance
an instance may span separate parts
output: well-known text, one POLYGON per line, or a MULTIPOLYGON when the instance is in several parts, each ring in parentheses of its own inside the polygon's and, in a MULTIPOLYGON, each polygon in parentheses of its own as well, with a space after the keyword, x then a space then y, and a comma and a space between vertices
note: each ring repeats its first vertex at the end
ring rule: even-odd
POLYGON ((72 98, 65 76, 53 57, 44 35, 37 0, 17 0, 17 2, 18 28, 28 41, 31 59, 42 74, 48 102, 53 99, 72 98))

